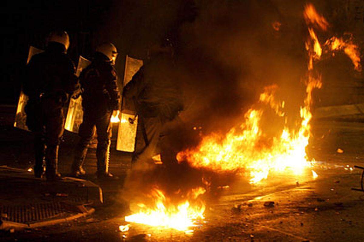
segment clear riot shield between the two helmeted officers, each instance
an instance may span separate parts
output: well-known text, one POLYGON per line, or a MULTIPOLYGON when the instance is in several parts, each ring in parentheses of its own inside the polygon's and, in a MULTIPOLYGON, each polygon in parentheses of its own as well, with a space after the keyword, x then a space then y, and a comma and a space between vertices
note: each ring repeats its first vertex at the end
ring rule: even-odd
MULTIPOLYGON (((87 60, 80 56, 78 60, 76 76, 80 76, 82 70, 90 65, 91 61, 87 60)), ((70 98, 70 105, 68 106, 66 122, 64 124, 64 128, 70 132, 78 133, 80 128, 80 124, 83 119, 83 110, 82 110, 82 97, 78 98, 70 98)))

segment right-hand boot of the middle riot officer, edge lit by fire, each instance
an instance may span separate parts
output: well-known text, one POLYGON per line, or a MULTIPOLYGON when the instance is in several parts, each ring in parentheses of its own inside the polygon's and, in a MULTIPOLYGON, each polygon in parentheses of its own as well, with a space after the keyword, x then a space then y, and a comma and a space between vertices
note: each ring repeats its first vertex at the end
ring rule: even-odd
POLYGON ((110 160, 110 141, 108 141, 106 149, 100 148, 99 145, 96 149, 97 158, 97 172, 96 176, 100 180, 117 180, 118 177, 109 172, 110 160))

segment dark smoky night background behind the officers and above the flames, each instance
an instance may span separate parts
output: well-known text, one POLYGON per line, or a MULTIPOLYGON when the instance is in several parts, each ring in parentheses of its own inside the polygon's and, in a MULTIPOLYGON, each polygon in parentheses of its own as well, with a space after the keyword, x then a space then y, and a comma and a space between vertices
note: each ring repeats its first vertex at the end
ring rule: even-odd
MULTIPOLYGON (((317 32, 321 42, 350 32, 363 49, 364 0, 311 2, 330 23, 327 32, 317 32)), ((64 29, 70 35, 68 54, 75 64, 79 55, 90 58, 98 43, 114 43, 119 52, 119 80, 123 79, 125 55, 145 59, 150 46, 166 37, 171 39, 177 48, 176 71, 181 77, 178 81, 186 84, 186 106, 191 110, 187 116, 197 125, 209 124, 214 130, 236 123, 235 119, 241 119, 244 110, 256 102, 262 87, 274 83, 280 86, 281 99, 298 113, 305 95, 302 78, 307 71, 307 26, 302 15, 306 3, 7 0, 2 9, 0 104, 16 105, 21 85, 19 73, 29 46, 44 49, 47 33, 64 29), (282 24, 280 31, 272 28, 275 21, 282 24)), ((345 55, 339 53, 323 60, 317 68, 323 73, 324 84, 314 95, 314 105, 364 102, 363 76, 353 71, 345 55)))

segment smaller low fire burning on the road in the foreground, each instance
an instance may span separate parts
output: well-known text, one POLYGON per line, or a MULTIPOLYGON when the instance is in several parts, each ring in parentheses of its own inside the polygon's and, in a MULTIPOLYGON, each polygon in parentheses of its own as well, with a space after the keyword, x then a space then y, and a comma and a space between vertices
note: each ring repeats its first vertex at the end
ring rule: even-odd
POLYGON ((187 199, 176 206, 165 197, 161 190, 155 188, 150 195, 153 204, 151 206, 144 203, 138 204, 138 211, 126 216, 125 221, 190 231, 191 227, 196 226, 196 220, 205 218, 203 215, 205 204, 198 199, 203 193, 205 189, 202 187, 193 189, 187 195, 187 199))

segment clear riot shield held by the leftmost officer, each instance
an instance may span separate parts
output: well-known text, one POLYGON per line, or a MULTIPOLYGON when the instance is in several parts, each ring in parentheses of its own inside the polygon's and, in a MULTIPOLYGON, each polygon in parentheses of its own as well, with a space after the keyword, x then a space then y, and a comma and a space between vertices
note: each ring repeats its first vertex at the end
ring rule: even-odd
MULTIPOLYGON (((29 63, 29 61, 33 55, 41 53, 41 52, 43 52, 43 50, 37 49, 37 48, 31 46, 29 48, 27 64, 29 63)), ((28 102, 28 96, 23 93, 23 90, 20 90, 18 106, 16 108, 16 114, 15 114, 14 127, 29 131, 29 129, 27 127, 27 114, 24 111, 24 108, 25 108, 25 105, 27 105, 27 102, 28 102)))

